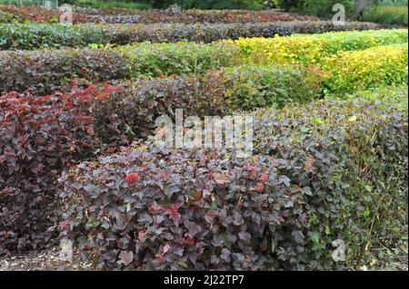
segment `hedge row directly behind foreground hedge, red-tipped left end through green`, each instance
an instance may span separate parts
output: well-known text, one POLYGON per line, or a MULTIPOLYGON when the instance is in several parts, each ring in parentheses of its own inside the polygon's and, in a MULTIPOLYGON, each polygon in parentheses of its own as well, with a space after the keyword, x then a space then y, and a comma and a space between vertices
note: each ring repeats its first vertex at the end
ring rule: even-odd
POLYGON ((237 68, 85 89, 76 82, 70 90, 47 97, 29 91, 3 94, 0 254, 43 246, 53 237, 58 217, 55 181, 62 170, 99 150, 147 138, 160 115, 177 108, 196 115, 224 115, 240 107, 244 93, 240 84, 245 82, 253 83, 249 89, 254 91, 254 106, 263 104, 261 98, 264 104, 283 104, 316 97, 310 92, 316 85, 314 77, 304 77, 314 72, 291 67, 252 67, 251 71, 237 68), (273 82, 275 75, 284 77, 273 82))

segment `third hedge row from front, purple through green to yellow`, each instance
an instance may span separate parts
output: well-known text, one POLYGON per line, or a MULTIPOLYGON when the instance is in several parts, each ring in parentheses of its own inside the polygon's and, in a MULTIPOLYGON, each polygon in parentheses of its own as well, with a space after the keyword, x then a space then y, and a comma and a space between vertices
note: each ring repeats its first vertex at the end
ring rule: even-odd
MULTIPOLYGON (((55 86, 61 85, 72 77, 84 77, 93 82, 101 82, 141 76, 201 74, 207 70, 217 70, 243 63, 314 63, 318 62, 319 56, 329 56, 329 52, 363 49, 384 43, 400 43, 407 39, 407 32, 401 30, 351 32, 350 34, 352 36, 346 37, 347 41, 334 41, 333 45, 326 46, 316 44, 322 43, 320 37, 274 38, 275 43, 284 43, 280 46, 282 48, 291 47, 291 49, 289 48, 290 51, 293 51, 294 47, 299 48, 294 53, 269 53, 269 50, 266 49, 265 53, 269 53, 270 58, 275 58, 275 60, 269 59, 265 55, 263 60, 255 60, 256 53, 249 52, 245 46, 247 40, 239 40, 235 43, 208 44, 138 43, 121 46, 117 49, 85 48, 0 52, 0 92, 24 92, 27 88, 51 92, 55 86), (364 43, 364 37, 360 37, 360 34, 367 35, 373 41, 364 43), (312 43, 315 44, 310 46, 312 43)), ((334 35, 330 34, 326 37, 333 39, 336 38, 334 35)), ((324 34, 321 37, 324 39, 324 34)), ((259 41, 260 39, 257 39, 254 43, 259 41)), ((270 40, 264 41, 274 43, 270 40)), ((252 41, 249 40, 249 42, 252 41)), ((328 43, 326 40, 325 42, 328 43)), ((270 44, 264 45, 264 47, 270 47, 270 44)), ((387 53, 383 57, 395 56, 387 53)), ((402 59, 400 56, 398 58, 402 59)), ((323 61, 324 59, 319 60, 319 62, 323 61)))

